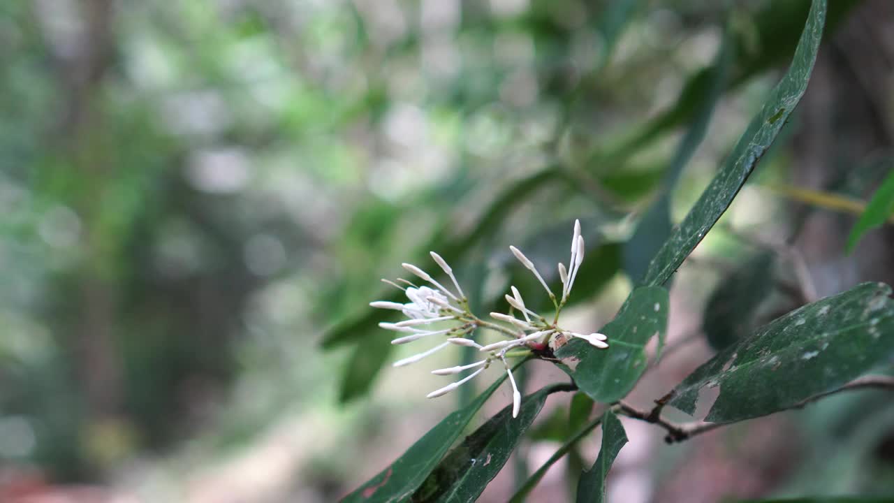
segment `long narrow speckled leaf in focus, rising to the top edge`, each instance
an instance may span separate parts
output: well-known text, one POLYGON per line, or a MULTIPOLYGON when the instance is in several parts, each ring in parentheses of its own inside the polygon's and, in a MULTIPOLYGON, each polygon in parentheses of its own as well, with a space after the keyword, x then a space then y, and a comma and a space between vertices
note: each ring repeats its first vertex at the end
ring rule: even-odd
POLYGON ((825 14, 825 0, 814 0, 789 71, 773 89, 761 112, 748 125, 720 172, 655 255, 646 270, 643 285, 663 285, 671 278, 730 206, 748 175, 770 148, 807 89, 822 39, 825 14))

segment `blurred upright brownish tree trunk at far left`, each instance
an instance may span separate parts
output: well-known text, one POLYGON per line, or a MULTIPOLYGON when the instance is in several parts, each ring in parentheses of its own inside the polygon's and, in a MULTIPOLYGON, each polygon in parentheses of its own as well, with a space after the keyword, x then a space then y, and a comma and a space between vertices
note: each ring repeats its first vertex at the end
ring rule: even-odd
POLYGON ((110 246, 112 236, 104 235, 98 224, 105 184, 114 170, 105 149, 102 104, 113 54, 113 3, 42 0, 36 11, 65 107, 55 133, 61 162, 53 176, 66 182, 68 204, 82 229, 83 263, 68 288, 74 326, 63 328, 68 331, 63 337, 69 339, 77 385, 87 399, 85 419, 96 422, 120 413, 122 401, 121 362, 114 344, 114 244, 110 246), (67 12, 66 7, 77 10, 67 12), (76 28, 60 28, 60 21, 76 28))

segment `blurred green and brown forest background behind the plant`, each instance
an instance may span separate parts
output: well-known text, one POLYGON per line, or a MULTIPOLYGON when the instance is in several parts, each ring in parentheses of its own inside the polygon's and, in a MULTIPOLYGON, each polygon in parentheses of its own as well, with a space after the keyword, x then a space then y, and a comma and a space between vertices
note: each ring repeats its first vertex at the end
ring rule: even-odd
MULTIPOLYGON (((641 217, 662 200, 686 214, 808 6, 0 3, 0 501, 338 499, 490 379, 426 400, 443 378, 392 369, 414 348, 376 328, 379 278, 434 271, 435 250, 491 311, 510 282, 536 297, 508 246, 552 271, 579 217, 589 269, 569 320, 599 328, 662 235, 641 217)), ((826 35, 796 115, 674 278, 671 354, 640 405, 797 305, 894 283, 890 226, 843 250, 892 166, 894 5, 831 0, 826 35)), ((529 388, 564 379, 526 372, 529 388)), ((552 454, 565 407, 551 398, 481 501, 552 454)), ((880 391, 670 447, 625 426, 615 501, 894 491, 880 391)), ((531 500, 566 499, 597 448, 598 433, 531 500)))

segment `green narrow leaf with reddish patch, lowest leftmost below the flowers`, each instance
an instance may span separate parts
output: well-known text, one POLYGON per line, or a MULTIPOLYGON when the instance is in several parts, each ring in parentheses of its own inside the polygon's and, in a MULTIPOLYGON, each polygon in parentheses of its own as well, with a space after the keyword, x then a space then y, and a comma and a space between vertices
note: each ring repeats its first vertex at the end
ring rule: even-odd
POLYGON ((496 388, 500 387, 504 379, 506 379, 506 374, 502 374, 502 377, 497 379, 474 402, 450 413, 442 422, 429 430, 424 437, 418 439, 391 466, 345 496, 342 502, 391 503, 409 498, 438 465, 438 462, 450 449, 453 440, 460 436, 481 405, 485 404, 487 398, 493 394, 496 388))

